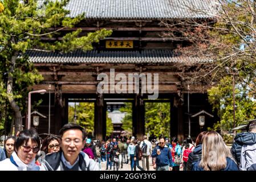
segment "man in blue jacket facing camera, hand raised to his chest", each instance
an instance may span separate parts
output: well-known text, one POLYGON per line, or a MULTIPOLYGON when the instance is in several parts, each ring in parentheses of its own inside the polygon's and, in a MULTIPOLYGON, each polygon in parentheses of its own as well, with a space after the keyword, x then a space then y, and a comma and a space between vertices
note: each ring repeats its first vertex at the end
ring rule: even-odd
POLYGON ((159 140, 159 146, 153 150, 151 156, 152 158, 156 158, 156 171, 172 171, 172 152, 165 145, 164 138, 159 140))

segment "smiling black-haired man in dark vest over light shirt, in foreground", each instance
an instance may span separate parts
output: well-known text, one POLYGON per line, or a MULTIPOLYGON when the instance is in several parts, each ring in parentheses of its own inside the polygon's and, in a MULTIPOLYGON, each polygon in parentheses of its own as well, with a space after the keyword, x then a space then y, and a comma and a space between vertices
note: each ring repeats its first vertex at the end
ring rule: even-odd
POLYGON ((68 123, 59 131, 62 151, 46 155, 43 166, 48 171, 99 171, 99 165, 82 152, 85 144, 83 127, 68 123))

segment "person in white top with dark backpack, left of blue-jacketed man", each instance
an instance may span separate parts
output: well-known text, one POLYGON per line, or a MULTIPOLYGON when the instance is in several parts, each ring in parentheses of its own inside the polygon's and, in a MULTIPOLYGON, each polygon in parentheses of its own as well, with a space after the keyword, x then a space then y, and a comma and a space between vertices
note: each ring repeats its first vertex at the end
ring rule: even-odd
POLYGON ((152 154, 152 144, 149 142, 148 137, 146 135, 143 136, 143 142, 140 142, 140 148, 143 152, 142 166, 143 169, 146 170, 145 161, 147 165, 147 170, 149 171, 149 157, 152 154))

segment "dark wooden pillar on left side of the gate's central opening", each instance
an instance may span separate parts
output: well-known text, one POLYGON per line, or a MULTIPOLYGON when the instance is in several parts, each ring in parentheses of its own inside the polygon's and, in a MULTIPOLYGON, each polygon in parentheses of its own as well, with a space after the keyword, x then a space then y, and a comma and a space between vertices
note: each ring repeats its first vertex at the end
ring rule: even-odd
POLYGON ((96 102, 94 106, 94 131, 95 131, 95 138, 97 140, 103 140, 105 139, 105 114, 104 114, 104 100, 103 100, 103 94, 97 94, 96 102))

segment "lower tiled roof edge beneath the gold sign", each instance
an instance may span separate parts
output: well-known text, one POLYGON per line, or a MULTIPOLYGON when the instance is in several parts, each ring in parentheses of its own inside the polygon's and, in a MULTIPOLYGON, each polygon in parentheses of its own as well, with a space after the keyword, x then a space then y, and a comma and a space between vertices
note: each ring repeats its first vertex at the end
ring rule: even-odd
POLYGON ((212 59, 200 57, 173 56, 172 51, 75 51, 60 54, 55 52, 29 51, 32 63, 210 63, 212 59))

